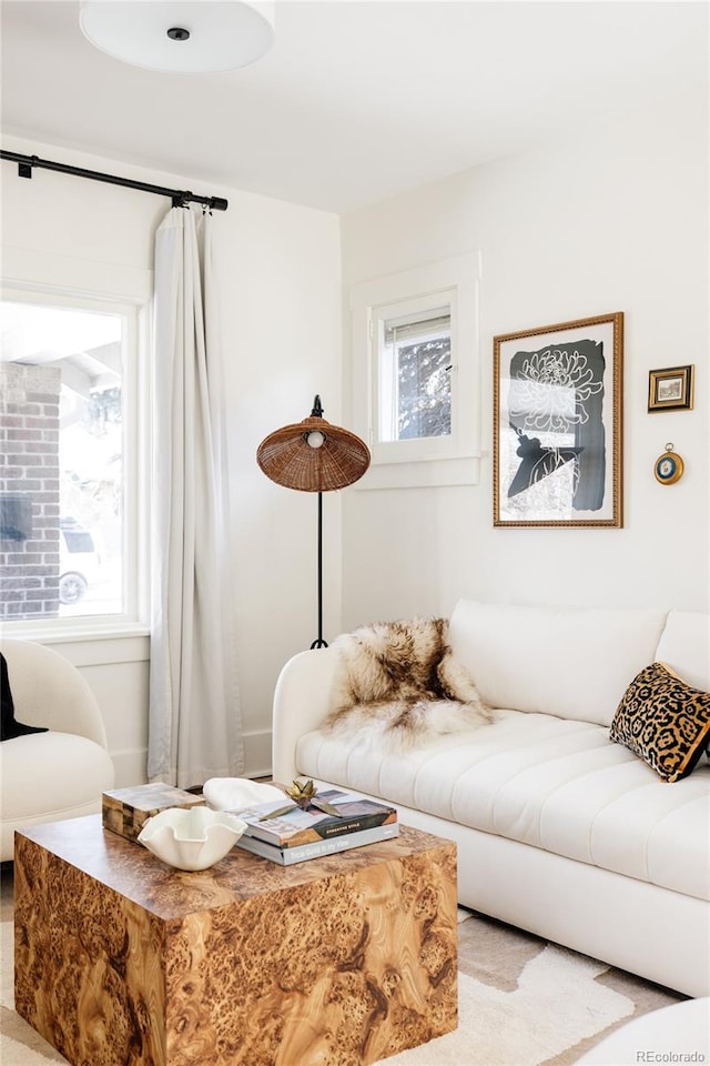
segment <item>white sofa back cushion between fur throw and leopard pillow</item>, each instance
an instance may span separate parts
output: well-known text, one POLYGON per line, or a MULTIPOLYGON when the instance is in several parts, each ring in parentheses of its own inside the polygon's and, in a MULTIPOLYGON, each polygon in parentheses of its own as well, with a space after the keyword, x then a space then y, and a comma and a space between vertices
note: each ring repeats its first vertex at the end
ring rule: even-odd
POLYGON ((629 682, 657 657, 666 615, 459 600, 449 642, 489 706, 609 726, 629 682))

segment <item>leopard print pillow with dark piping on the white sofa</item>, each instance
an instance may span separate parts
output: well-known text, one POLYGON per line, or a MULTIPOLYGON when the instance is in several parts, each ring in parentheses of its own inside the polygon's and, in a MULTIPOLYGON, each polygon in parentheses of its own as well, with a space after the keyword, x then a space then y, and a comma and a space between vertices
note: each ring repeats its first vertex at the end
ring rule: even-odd
POLYGON ((710 742, 710 693, 687 685, 665 663, 651 663, 623 694, 609 740, 630 748, 663 781, 680 781, 710 742))

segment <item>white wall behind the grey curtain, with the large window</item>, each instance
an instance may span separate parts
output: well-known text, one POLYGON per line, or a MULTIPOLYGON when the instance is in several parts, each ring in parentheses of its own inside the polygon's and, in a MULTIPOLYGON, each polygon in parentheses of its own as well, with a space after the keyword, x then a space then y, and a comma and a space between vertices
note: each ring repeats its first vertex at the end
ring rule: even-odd
MULTIPOLYGON (((306 418, 316 392, 325 416, 339 421, 337 218, 51 144, 8 137, 3 148, 230 201, 226 213, 215 214, 236 561, 235 587, 224 594, 234 599, 239 619, 245 773, 264 773, 278 670, 316 635, 316 502, 270 482, 255 453, 272 430, 306 418)), ((150 296, 153 234, 169 200, 45 170, 28 181, 7 161, 1 174, 6 279, 150 296)), ((325 620, 337 627, 339 497, 328 499, 324 511, 325 620)), ((145 632, 55 645, 81 667, 99 698, 119 786, 145 774, 145 632)))

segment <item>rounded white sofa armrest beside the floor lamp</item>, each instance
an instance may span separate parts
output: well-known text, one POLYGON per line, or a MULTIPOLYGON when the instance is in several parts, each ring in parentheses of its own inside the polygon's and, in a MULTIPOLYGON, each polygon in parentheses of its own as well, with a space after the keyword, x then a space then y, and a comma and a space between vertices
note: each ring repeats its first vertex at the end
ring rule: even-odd
POLYGON ((297 776, 296 744, 332 710, 341 653, 335 647, 300 652, 281 671, 274 692, 272 774, 288 785, 297 776))

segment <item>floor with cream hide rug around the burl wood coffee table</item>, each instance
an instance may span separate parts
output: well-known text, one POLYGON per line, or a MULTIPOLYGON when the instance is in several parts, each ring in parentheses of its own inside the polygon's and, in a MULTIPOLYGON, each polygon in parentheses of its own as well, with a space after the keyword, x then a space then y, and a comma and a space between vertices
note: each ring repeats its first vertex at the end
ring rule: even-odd
MULTIPOLYGON (((11 868, 1 905, 0 1063, 65 1063, 13 1009, 11 868)), ((458 1028, 386 1066, 572 1066, 619 1025, 683 998, 467 911, 459 911, 458 946, 458 1028)))

